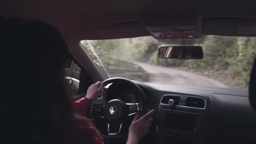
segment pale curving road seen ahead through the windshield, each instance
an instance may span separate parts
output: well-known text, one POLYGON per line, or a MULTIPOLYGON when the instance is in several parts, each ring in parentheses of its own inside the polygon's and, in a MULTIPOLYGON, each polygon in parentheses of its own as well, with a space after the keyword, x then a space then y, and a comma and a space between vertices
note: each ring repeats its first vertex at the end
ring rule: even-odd
POLYGON ((171 85, 227 88, 227 85, 224 85, 217 80, 213 80, 201 75, 196 75, 191 72, 185 72, 173 68, 160 67, 138 62, 135 62, 135 64, 138 64, 145 71, 149 72, 149 83, 166 83, 171 85))

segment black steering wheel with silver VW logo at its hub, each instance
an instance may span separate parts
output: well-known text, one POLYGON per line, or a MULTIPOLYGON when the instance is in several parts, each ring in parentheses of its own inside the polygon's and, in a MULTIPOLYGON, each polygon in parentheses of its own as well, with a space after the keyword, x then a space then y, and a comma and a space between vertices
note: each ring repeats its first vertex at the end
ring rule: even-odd
MULTIPOLYGON (((104 135, 104 138, 120 138, 121 136, 127 136, 128 131, 123 130, 127 128, 127 125, 125 126, 125 122, 129 117, 134 117, 139 110, 141 111, 141 114, 146 112, 146 105, 144 104, 145 94, 139 85, 126 78, 110 78, 105 80, 103 83, 106 85, 110 83, 112 83, 112 85, 127 85, 129 88, 132 88, 139 97, 139 103, 125 103, 119 99, 107 101, 109 94, 107 93, 108 90, 106 90, 104 91, 105 102, 101 102, 100 106, 93 107, 90 110, 89 115, 91 117, 107 122, 107 134, 104 135)), ((115 89, 112 89, 112 91, 115 91, 115 89)))

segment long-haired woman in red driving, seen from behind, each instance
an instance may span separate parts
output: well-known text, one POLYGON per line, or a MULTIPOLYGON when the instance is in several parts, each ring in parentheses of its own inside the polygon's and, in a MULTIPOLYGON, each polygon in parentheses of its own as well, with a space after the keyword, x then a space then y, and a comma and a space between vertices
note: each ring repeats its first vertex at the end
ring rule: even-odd
MULTIPOLYGON (((84 98, 72 101, 64 79, 70 54, 61 34, 49 24, 21 19, 1 21, 1 34, 2 52, 11 56, 8 65, 2 65, 8 68, 4 75, 19 85, 12 91, 15 101, 8 100, 12 104, 6 106, 4 117, 11 123, 8 131, 12 135, 17 133, 19 142, 29 139, 40 144, 102 144, 99 131, 81 115, 99 97, 104 82, 91 85, 84 98), (11 115, 13 112, 16 115, 11 115)), ((149 131, 153 113, 152 110, 142 117, 137 113, 129 128, 127 144, 137 144, 149 131)))

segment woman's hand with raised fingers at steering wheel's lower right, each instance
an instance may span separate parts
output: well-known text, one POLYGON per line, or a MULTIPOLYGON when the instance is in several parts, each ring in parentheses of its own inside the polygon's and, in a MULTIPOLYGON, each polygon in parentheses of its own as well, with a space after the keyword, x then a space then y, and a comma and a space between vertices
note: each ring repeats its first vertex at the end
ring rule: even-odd
POLYGON ((155 110, 153 109, 140 117, 140 113, 137 112, 129 128, 127 144, 137 144, 139 140, 149 132, 154 113, 155 110))

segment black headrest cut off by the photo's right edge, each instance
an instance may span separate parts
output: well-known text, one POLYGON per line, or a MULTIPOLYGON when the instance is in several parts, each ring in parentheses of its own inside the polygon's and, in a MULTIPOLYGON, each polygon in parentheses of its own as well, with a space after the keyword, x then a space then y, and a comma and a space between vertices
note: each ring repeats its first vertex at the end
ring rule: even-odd
POLYGON ((256 59, 254 59, 253 68, 251 70, 249 84, 249 101, 253 109, 256 110, 256 59))

